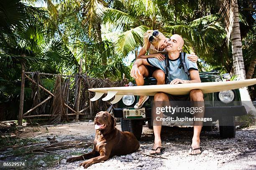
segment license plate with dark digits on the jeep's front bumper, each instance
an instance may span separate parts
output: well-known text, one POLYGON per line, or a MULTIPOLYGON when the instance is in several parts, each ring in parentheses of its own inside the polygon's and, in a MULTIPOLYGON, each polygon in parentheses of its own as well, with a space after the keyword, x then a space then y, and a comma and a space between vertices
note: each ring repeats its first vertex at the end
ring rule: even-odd
POLYGON ((145 107, 141 109, 123 108, 123 118, 125 119, 146 118, 145 107))

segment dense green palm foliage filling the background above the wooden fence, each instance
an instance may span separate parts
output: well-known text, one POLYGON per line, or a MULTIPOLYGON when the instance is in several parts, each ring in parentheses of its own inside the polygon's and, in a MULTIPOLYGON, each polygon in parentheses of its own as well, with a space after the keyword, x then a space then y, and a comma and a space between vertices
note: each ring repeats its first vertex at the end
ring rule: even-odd
MULTIPOLYGON (((19 102, 22 63, 26 71, 75 75, 82 57, 82 72, 91 77, 131 78, 124 58, 142 45, 148 29, 182 35, 184 51, 201 59, 200 70, 232 70, 226 39, 232 4, 220 9, 214 0, 44 0, 46 7, 33 7, 38 2, 0 2, 0 105, 8 108, 6 115, 18 113, 12 106, 19 102)), ((238 6, 247 70, 255 59, 255 2, 238 0, 238 6)), ((42 83, 54 88, 53 77, 42 77, 42 83)), ((32 102, 30 86, 26 80, 25 107, 32 102)))

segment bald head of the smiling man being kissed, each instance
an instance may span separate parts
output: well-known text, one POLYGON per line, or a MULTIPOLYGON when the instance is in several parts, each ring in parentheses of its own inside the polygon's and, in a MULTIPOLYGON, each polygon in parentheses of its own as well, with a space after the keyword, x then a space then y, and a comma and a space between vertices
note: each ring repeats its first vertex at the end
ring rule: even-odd
POLYGON ((172 37, 169 38, 169 40, 167 42, 166 51, 167 52, 176 52, 176 51, 180 52, 180 50, 182 50, 183 45, 184 45, 183 38, 178 34, 174 34, 174 35, 172 35, 172 37))

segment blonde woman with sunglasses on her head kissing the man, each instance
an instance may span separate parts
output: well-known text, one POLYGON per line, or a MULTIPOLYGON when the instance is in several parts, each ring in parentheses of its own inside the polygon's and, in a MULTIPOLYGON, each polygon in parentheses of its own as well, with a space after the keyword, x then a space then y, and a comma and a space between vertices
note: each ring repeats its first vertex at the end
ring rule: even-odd
MULTIPOLYGON (((143 35, 143 47, 138 54, 138 58, 157 58, 160 61, 164 60, 164 53, 166 53, 168 38, 166 38, 158 30, 148 30, 143 35), (148 52, 148 55, 146 53, 148 52)), ((197 62, 197 55, 191 54, 188 57, 192 62, 197 62)), ((157 85, 165 83, 164 71, 153 66, 141 65, 138 67, 140 74, 143 76, 137 76, 135 79, 137 85, 144 85, 143 77, 154 77, 157 80, 157 85)), ((148 100, 149 96, 140 96, 139 101, 134 106, 135 109, 139 109, 148 100)))

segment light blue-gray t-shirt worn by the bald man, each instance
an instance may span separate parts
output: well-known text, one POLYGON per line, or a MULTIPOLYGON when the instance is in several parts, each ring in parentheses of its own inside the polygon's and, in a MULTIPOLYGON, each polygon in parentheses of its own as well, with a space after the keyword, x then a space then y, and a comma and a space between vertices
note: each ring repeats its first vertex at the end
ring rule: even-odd
MULTIPOLYGON (((191 70, 191 69, 198 70, 197 63, 188 60, 187 56, 188 55, 186 54, 185 62, 186 62, 186 65, 187 65, 187 69, 188 70, 191 70)), ((187 74, 184 71, 184 69, 182 67, 179 68, 179 66, 180 66, 179 57, 175 60, 171 60, 171 59, 168 58, 168 61, 169 61, 169 70, 170 70, 170 77, 169 78, 170 78, 171 81, 174 80, 175 78, 178 78, 178 79, 181 79, 181 80, 188 80, 187 74)), ((157 58, 147 58, 147 62, 151 66, 158 67, 161 70, 165 71, 165 63, 164 63, 165 60, 164 61, 159 61, 157 58)))

